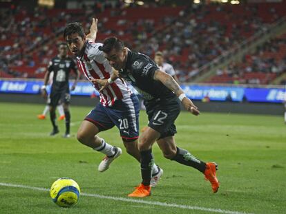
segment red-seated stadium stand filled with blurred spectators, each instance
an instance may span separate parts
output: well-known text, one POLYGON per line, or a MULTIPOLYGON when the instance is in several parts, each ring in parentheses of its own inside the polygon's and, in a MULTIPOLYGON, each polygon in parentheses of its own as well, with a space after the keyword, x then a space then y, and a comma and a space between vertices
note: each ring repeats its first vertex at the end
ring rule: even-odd
MULTIPOLYGON (((286 14, 285 1, 239 6, 116 7, 120 10, 101 5, 76 10, 29 10, 23 6, 1 9, 0 76, 43 78, 46 65, 55 54, 55 43, 62 40, 66 23, 80 21, 88 29, 91 17, 97 17, 97 41, 115 35, 124 39, 128 47, 151 56, 162 50, 177 70, 179 80, 190 81, 200 67, 237 47, 254 32, 267 31, 271 23, 286 14)), ((228 65, 207 82, 270 83, 280 72, 285 72, 285 67, 280 71, 285 64, 285 46, 281 44, 285 43, 285 37, 268 43, 270 47, 278 45, 280 51, 264 50, 263 45, 256 54, 247 54, 242 63, 228 65), (271 63, 271 71, 260 70, 255 65, 258 62, 267 66, 271 63)))

